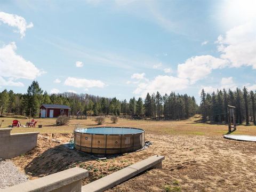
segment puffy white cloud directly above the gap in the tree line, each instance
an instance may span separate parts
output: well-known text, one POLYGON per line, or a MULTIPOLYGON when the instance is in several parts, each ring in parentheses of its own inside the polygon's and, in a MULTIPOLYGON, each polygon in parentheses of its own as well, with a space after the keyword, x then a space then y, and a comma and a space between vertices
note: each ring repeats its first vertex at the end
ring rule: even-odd
POLYGON ((226 67, 227 60, 215 58, 211 55, 201 55, 186 60, 178 65, 178 77, 187 78, 190 84, 209 75, 213 69, 226 67))

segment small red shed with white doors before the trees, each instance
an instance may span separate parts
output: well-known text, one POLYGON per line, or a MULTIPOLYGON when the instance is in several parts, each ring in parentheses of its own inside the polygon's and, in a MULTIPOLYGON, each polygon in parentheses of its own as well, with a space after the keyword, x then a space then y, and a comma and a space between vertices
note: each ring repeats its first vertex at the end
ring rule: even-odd
POLYGON ((54 118, 60 115, 67 115, 69 117, 70 108, 66 105, 43 104, 40 107, 39 116, 41 118, 54 118))

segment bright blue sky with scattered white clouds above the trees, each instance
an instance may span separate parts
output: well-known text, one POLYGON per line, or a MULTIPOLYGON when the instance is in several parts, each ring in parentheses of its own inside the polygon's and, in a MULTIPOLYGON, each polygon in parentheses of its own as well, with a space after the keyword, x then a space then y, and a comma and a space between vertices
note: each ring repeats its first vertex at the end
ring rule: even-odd
POLYGON ((0 91, 130 99, 256 90, 256 4, 246 1, 1 1, 0 91))

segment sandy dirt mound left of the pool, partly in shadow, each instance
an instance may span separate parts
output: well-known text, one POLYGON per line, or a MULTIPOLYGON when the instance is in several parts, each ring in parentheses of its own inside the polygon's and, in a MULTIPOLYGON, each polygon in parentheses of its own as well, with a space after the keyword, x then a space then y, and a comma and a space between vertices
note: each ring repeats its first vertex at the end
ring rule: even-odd
POLYGON ((78 153, 62 145, 69 141, 70 136, 69 133, 39 134, 37 147, 20 157, 13 158, 13 161, 29 175, 30 179, 35 179, 92 159, 90 155, 78 153))

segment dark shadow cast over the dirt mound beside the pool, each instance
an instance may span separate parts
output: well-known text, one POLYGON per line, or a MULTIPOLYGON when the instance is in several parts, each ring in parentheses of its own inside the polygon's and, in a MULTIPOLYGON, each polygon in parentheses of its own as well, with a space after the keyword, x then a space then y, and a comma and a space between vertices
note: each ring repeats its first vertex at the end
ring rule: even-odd
POLYGON ((32 177, 43 177, 75 167, 78 163, 92 161, 94 159, 95 157, 90 154, 82 153, 75 149, 71 150, 65 145, 59 145, 35 157, 25 167, 25 172, 32 177))

